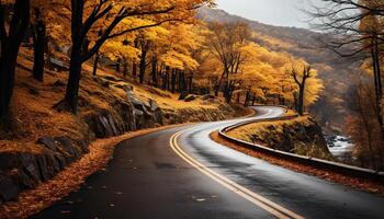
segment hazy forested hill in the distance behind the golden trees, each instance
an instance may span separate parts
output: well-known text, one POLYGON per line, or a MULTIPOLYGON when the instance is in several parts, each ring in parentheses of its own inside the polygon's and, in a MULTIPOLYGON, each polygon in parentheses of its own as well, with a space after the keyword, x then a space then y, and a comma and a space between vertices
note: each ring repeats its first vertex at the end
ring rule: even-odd
POLYGON ((253 41, 257 44, 270 50, 289 53, 313 64, 324 80, 325 92, 312 112, 324 125, 341 127, 342 118, 348 114, 345 99, 352 82, 345 79, 351 78, 358 68, 353 61, 340 58, 334 51, 321 47, 319 33, 305 28, 262 24, 218 9, 201 9, 199 19, 208 22, 246 22, 256 32, 253 41))

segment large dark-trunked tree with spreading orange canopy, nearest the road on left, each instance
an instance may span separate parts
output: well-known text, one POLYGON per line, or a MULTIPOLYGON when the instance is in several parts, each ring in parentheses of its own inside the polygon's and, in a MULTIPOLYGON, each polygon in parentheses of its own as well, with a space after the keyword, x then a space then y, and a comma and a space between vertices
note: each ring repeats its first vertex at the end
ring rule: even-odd
MULTIPOLYGON (((64 2, 65 3, 65 2, 64 2)), ((84 1, 71 0, 71 54, 69 79, 64 104, 72 112, 78 112, 79 83, 81 66, 89 60, 101 46, 111 38, 122 36, 138 30, 158 26, 170 21, 182 21, 193 18, 193 10, 201 4, 212 3, 203 0, 137 0, 120 1, 114 4, 111 0, 84 1), (140 19, 138 24, 129 19, 140 19), (102 31, 102 36, 94 34, 95 28, 102 31)))

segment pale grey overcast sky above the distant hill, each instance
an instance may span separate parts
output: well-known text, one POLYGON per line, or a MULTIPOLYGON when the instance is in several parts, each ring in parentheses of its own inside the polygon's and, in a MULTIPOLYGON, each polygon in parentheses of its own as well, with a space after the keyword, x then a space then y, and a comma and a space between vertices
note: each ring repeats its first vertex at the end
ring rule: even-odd
POLYGON ((306 0, 216 0, 219 9, 249 20, 278 26, 308 28, 306 0))

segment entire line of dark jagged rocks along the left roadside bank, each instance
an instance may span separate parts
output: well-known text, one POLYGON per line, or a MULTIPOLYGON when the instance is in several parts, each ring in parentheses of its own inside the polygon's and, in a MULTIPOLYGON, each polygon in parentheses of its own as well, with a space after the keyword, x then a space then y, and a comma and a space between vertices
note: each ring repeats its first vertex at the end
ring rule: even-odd
MULTIPOLYGON (((217 104, 218 107, 162 110, 155 100, 147 102, 138 100, 133 88, 123 84, 115 84, 117 79, 93 78, 93 81, 103 88, 112 87, 126 91, 126 99, 109 100, 109 110, 92 108, 80 114, 79 124, 84 127, 84 139, 74 139, 69 136, 44 136, 37 139, 36 147, 41 149, 32 152, 0 152, 0 203, 12 200, 29 188, 33 188, 42 182, 54 177, 71 162, 80 159, 89 152, 88 146, 97 138, 108 138, 123 135, 126 131, 151 128, 160 125, 181 124, 187 122, 211 122, 225 119, 228 116, 237 115, 234 106, 219 103, 214 96, 185 95, 185 101, 201 99, 206 104, 217 104)), ((55 87, 61 87, 56 81, 55 87)), ((102 94, 95 94, 102 95, 102 94)), ((83 105, 90 105, 86 99, 80 96, 83 105)), ((76 137, 77 138, 77 137, 76 137)))

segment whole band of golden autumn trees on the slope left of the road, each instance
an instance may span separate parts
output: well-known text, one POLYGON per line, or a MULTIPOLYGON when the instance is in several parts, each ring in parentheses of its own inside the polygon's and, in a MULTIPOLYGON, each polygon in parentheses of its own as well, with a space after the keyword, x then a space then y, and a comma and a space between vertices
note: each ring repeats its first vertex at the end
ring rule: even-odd
POLYGON ((32 77, 44 67, 69 77, 55 107, 76 114, 82 65, 112 66, 124 77, 173 93, 223 96, 228 103, 283 104, 303 114, 323 83, 303 59, 256 44, 241 22, 196 20, 211 0, 10 0, 1 2, 0 124, 9 128, 19 49, 32 42, 32 77), (56 57, 56 58, 54 58, 56 57))

